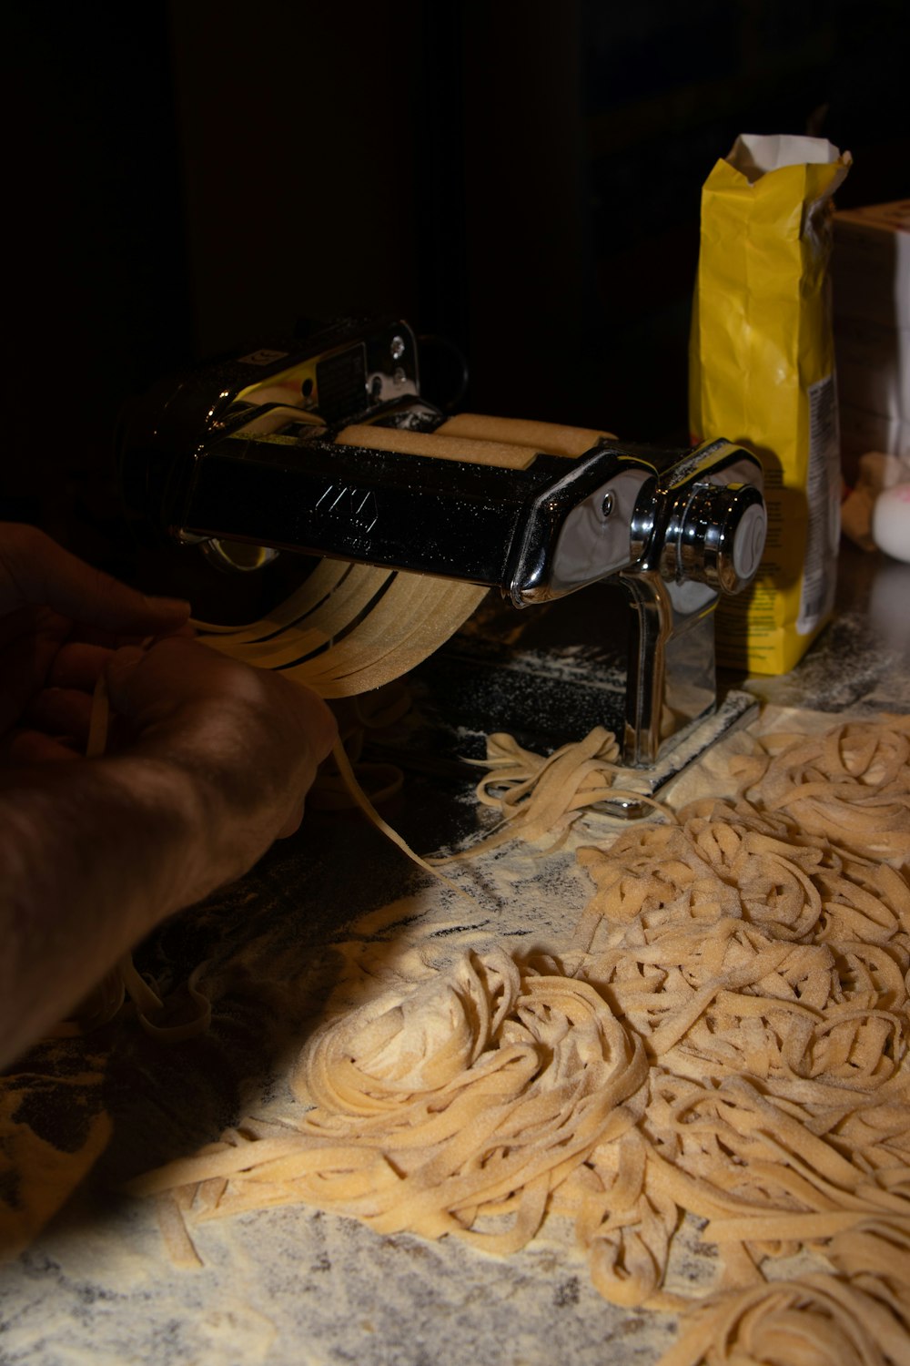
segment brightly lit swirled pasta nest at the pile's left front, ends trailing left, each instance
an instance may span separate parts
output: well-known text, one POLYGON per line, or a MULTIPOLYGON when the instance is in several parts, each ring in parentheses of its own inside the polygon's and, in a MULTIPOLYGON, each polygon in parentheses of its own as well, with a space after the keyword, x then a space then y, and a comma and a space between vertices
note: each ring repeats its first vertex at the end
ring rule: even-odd
POLYGON ((640 1044, 591 986, 498 951, 467 956, 318 1030, 291 1078, 314 1106, 295 1127, 246 1120, 130 1188, 172 1193, 198 1218, 303 1201, 503 1254, 599 1143, 632 1130, 645 1078, 640 1044))

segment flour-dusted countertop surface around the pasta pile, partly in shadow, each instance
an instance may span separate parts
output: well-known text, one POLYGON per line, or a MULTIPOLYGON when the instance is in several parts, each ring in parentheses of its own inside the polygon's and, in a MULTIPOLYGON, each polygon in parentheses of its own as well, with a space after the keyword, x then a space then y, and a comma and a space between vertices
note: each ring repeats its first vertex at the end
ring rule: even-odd
MULTIPOLYGON (((831 724, 830 716, 769 712, 761 729, 790 720, 802 729, 831 724)), ((671 803, 731 791, 729 757, 750 744, 748 735, 731 735, 679 779, 671 803)), ((431 800, 430 790, 423 795, 431 800)), ((427 848, 426 803, 400 814, 413 822, 409 839, 427 848)), ((161 1052, 121 1026, 119 1061, 115 1055, 109 1065, 121 1087, 132 1079, 132 1109, 109 1089, 120 1108, 113 1105, 98 1180, 0 1274, 4 1361, 209 1366, 231 1354, 273 1366, 473 1366, 490 1359, 494 1343, 495 1359, 514 1366, 655 1366, 673 1340, 673 1315, 606 1303, 569 1218, 550 1220, 529 1247, 499 1259, 452 1238, 377 1236, 349 1218, 287 1206, 195 1225, 203 1265, 181 1272, 168 1262, 151 1205, 112 1194, 240 1115, 287 1116, 295 1104, 289 1070, 327 1003, 333 1012, 362 1005, 390 985, 450 970, 465 951, 565 953, 592 889, 576 851, 603 848, 623 829, 585 813, 555 855, 512 844, 482 855, 457 870, 472 904, 423 876, 402 876, 397 851, 338 820, 315 835, 311 828, 311 843, 276 847, 258 873, 258 896, 240 884, 218 904, 179 918, 153 948, 165 962, 210 958, 211 1037, 161 1052), (352 887, 355 848, 356 866, 368 873, 352 887)), ((690 1298, 716 1281, 716 1247, 703 1221, 688 1216, 673 1243, 667 1290, 690 1298)))

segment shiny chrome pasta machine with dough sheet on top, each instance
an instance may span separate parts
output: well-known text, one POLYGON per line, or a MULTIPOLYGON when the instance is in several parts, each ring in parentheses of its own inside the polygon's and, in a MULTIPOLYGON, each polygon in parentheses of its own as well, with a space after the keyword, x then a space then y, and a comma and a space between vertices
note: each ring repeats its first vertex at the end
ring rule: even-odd
POLYGON ((127 414, 120 470, 134 519, 226 570, 292 550, 441 575, 498 590, 513 620, 621 586, 619 627, 587 611, 625 654, 621 724, 600 724, 648 792, 753 705, 716 714, 712 609, 754 576, 767 527, 761 464, 730 441, 449 418, 405 322, 345 320, 165 381, 127 414))

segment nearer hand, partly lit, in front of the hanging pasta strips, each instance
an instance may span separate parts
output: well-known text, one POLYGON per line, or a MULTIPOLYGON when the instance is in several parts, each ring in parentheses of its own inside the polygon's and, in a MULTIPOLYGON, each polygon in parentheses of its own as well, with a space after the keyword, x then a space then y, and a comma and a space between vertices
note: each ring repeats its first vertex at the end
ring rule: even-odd
POLYGON ((190 779, 231 876, 296 831, 337 735, 315 693, 180 637, 117 650, 106 679, 109 753, 160 759, 190 779))

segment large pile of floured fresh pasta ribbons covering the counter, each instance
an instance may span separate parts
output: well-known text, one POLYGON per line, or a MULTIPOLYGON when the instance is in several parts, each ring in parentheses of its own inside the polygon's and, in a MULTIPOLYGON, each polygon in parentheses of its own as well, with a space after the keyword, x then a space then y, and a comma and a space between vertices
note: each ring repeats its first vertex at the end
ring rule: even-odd
POLYGON ((187 1221, 288 1202, 498 1254, 568 1218, 607 1300, 679 1313, 662 1366, 906 1366, 910 717, 733 762, 734 798, 578 851, 596 891, 553 956, 327 1016, 293 1121, 135 1182, 175 1258, 187 1221), (720 1253, 694 1300, 685 1216, 720 1253))

